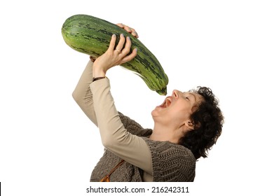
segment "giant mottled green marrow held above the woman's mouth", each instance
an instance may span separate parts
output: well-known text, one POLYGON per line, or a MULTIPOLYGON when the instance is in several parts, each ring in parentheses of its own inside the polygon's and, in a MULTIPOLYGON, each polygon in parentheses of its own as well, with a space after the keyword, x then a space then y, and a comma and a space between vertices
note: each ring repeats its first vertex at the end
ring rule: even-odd
POLYGON ((109 48, 112 34, 117 35, 116 44, 120 34, 130 36, 131 50, 138 49, 137 56, 121 66, 137 73, 151 90, 161 95, 167 94, 168 78, 162 66, 152 52, 128 31, 90 15, 73 15, 62 26, 62 36, 67 45, 95 58, 109 48))

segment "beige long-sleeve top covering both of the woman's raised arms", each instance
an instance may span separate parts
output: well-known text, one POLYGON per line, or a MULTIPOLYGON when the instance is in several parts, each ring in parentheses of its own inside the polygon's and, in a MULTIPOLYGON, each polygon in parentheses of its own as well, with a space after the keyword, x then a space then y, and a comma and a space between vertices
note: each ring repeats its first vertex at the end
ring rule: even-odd
POLYGON ((99 127, 102 144, 126 162, 144 171, 143 181, 152 181, 152 158, 142 137, 130 134, 119 117, 108 78, 92 82, 93 62, 82 73, 73 97, 90 120, 99 127))

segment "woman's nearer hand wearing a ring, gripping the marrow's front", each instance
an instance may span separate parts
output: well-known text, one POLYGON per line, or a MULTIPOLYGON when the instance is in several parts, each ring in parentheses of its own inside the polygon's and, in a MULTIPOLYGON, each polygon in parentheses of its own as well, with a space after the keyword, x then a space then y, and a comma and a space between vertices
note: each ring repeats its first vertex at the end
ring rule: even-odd
POLYGON ((93 64, 93 78, 106 76, 107 70, 111 67, 129 62, 137 55, 137 48, 132 50, 132 53, 128 55, 131 47, 130 37, 125 38, 125 36, 121 34, 120 41, 116 48, 115 41, 116 35, 113 34, 107 51, 95 60, 93 64), (124 43, 125 47, 123 48, 124 43))

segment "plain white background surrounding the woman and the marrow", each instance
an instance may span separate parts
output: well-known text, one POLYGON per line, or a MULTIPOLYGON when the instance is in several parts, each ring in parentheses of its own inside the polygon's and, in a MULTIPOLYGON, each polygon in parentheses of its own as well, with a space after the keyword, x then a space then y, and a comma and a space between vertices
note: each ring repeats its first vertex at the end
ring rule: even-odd
MULTIPOLYGON (((64 43, 61 27, 78 13, 134 27, 169 76, 168 94, 203 85, 219 98, 226 123, 197 162, 196 192, 272 195, 273 9, 240 0, 1 1, 3 195, 86 195, 103 147, 71 97, 88 55, 64 43)), ((117 109, 152 128, 165 97, 119 66, 107 75, 117 109)))

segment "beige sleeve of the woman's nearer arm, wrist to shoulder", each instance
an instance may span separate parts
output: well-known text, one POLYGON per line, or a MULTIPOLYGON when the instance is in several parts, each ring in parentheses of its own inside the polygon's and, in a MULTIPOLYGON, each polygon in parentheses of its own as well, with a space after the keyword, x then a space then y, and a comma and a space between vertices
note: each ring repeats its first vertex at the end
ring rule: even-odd
POLYGON ((149 146, 142 137, 130 134, 125 129, 111 96, 109 79, 90 84, 94 109, 101 134, 102 144, 118 157, 152 174, 152 159, 149 146))

